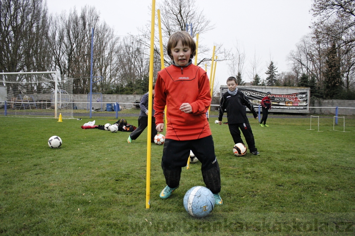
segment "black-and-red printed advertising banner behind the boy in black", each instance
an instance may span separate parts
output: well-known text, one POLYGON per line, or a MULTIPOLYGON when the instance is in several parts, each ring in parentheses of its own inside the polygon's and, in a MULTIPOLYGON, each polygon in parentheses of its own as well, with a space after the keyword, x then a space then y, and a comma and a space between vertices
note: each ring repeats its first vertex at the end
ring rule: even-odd
MULTIPOLYGON (((228 91, 228 88, 221 88, 222 94, 228 91)), ((253 106, 260 105, 261 99, 266 96, 266 92, 251 90, 247 88, 238 88, 239 91, 251 101, 253 106)), ((272 109, 307 109, 308 93, 296 92, 289 94, 272 93, 270 100, 272 102, 272 109)))

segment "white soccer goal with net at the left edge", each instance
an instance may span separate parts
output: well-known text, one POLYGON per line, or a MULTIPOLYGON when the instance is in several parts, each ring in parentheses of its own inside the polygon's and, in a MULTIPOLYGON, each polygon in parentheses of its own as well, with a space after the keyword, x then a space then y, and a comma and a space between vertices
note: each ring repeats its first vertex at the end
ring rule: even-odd
POLYGON ((0 116, 73 118, 73 79, 55 71, 0 73, 0 116))

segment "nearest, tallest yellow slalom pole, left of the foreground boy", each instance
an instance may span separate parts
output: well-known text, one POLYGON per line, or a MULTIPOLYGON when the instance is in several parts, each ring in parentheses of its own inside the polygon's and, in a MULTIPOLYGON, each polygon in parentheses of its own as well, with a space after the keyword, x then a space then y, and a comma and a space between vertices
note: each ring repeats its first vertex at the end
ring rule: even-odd
POLYGON ((154 20, 155 0, 152 0, 152 25, 151 25, 151 51, 149 58, 149 93, 148 93, 148 131, 147 131, 147 183, 146 183, 146 208, 151 205, 151 132, 152 132, 152 98, 153 98, 153 63, 154 63, 154 20))

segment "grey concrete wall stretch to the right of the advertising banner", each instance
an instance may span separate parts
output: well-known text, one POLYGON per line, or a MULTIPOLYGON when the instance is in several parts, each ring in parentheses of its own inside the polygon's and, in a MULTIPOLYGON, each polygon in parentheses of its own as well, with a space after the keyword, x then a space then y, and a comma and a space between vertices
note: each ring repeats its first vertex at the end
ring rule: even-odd
POLYGON ((315 100, 311 99, 311 114, 335 114, 335 108, 338 107, 338 115, 355 115, 355 100, 315 100), (322 107, 322 108, 311 108, 322 107), (330 108, 329 108, 330 107, 330 108), (339 108, 339 107, 350 107, 339 108))

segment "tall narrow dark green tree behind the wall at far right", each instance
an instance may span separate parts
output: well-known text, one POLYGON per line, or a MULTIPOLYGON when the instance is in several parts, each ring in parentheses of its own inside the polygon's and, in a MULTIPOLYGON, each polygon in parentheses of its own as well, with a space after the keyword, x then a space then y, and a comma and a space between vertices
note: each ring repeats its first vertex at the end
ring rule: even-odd
POLYGON ((340 74, 340 60, 337 48, 333 43, 327 52, 326 69, 324 71, 324 98, 332 99, 342 89, 342 76, 340 74))

